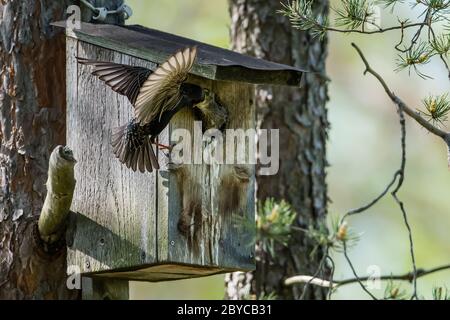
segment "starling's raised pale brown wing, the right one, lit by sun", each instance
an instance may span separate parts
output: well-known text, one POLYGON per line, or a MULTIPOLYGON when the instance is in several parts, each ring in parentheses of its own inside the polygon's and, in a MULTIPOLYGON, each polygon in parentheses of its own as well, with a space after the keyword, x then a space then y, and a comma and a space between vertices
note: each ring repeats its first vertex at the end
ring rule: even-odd
POLYGON ((169 57, 144 82, 136 99, 135 116, 146 124, 164 111, 173 109, 181 99, 180 86, 194 65, 197 48, 186 48, 169 57))

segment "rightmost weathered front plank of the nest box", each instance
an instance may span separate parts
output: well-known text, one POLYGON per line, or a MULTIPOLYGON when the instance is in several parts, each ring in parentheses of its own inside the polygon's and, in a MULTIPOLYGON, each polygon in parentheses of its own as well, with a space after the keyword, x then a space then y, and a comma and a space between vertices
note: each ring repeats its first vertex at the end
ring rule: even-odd
MULTIPOLYGON (((255 129, 253 85, 215 81, 213 90, 228 108, 230 119, 226 129, 255 129)), ((225 135, 224 145, 229 143, 229 138, 225 135)), ((249 139, 250 144, 254 143, 256 136, 250 136, 249 139)), ((235 140, 232 144, 236 155, 241 143, 245 144, 245 141, 235 140)), ((226 152, 225 148, 225 157, 226 152)), ((245 149, 245 152, 249 150, 245 149)), ((255 165, 249 164, 249 160, 246 158, 244 164, 238 163, 236 159, 236 164, 213 165, 211 170, 213 205, 221 219, 220 233, 216 235, 220 248, 218 261, 224 268, 238 265, 242 270, 254 269, 255 233, 247 229, 247 225, 244 228, 242 223, 247 221, 252 226, 255 221, 255 165)))

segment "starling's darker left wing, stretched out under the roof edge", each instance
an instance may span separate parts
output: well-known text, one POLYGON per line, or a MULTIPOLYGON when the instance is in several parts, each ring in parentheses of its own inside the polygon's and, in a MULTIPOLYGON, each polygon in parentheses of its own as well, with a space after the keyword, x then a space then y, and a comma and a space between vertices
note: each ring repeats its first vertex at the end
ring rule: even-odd
POLYGON ((104 81, 115 92, 128 97, 135 104, 139 90, 152 73, 143 67, 133 67, 113 62, 95 61, 77 57, 79 63, 94 66, 92 74, 104 81))

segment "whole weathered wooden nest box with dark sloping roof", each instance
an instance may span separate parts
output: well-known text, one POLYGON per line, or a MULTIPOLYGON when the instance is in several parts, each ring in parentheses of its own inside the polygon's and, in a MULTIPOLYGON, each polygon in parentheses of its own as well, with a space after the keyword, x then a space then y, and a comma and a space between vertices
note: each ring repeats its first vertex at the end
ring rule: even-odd
MULTIPOLYGON (((178 50, 197 46, 188 82, 218 97, 228 112, 225 129, 255 128, 254 84, 299 86, 301 70, 141 26, 82 23, 66 35, 67 145, 78 161, 68 266, 89 277, 138 281, 254 269, 255 232, 247 225, 255 221, 255 165, 172 166, 159 151, 160 170, 133 172, 110 143, 111 130, 127 123, 133 109, 76 57, 154 70, 178 50)), ((159 142, 177 142, 170 137, 179 128, 193 136, 196 120, 192 108, 183 109, 159 142)))

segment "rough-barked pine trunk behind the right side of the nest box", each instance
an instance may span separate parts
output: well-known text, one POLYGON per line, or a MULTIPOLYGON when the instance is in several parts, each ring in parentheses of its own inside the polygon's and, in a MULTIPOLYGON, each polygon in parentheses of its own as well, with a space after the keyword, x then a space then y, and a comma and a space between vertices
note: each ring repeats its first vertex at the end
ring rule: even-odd
MULTIPOLYGON (((328 13, 327 0, 313 3, 316 12, 328 13)), ((295 31, 276 13, 279 1, 229 0, 229 4, 233 50, 316 72, 306 75, 300 89, 259 86, 256 92, 258 127, 280 129, 280 171, 257 177, 258 200, 285 199, 298 213, 295 224, 307 228, 327 212, 327 41, 295 31)), ((289 248, 278 247, 274 259, 258 252, 256 272, 227 276, 227 297, 242 299, 250 289, 257 297, 275 293, 279 299, 298 299, 302 286, 285 287, 283 280, 315 273, 321 256, 319 252, 311 259, 311 245, 303 235, 294 234, 289 248)), ((306 299, 325 298, 325 290, 308 290, 306 299)))

